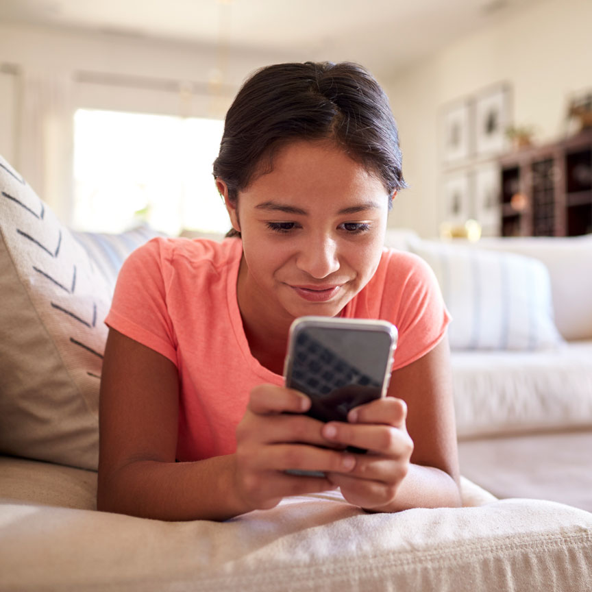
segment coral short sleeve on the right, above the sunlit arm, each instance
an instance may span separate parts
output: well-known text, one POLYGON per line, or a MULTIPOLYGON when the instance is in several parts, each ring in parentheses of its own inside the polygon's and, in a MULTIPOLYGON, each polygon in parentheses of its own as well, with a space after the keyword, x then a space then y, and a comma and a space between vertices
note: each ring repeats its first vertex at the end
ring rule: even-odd
POLYGON ((445 336, 450 315, 431 267, 414 254, 393 251, 384 277, 381 317, 399 332, 393 370, 419 360, 445 336))

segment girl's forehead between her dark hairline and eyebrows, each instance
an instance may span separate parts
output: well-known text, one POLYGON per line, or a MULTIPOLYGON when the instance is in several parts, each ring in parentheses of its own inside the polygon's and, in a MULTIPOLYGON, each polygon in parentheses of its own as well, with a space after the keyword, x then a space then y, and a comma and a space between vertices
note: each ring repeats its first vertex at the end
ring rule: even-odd
POLYGON ((261 197, 388 195, 382 180, 331 140, 298 140, 273 153, 271 170, 254 176, 245 192, 261 197))

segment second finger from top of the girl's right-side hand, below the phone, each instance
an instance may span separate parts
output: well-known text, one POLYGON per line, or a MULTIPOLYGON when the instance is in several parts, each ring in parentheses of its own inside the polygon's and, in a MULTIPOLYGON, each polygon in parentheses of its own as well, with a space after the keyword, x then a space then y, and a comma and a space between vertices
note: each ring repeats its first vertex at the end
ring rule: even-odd
POLYGON ((323 425, 321 433, 329 442, 367 449, 395 459, 411 456, 413 451, 413 442, 406 430, 393 425, 330 421, 323 425))

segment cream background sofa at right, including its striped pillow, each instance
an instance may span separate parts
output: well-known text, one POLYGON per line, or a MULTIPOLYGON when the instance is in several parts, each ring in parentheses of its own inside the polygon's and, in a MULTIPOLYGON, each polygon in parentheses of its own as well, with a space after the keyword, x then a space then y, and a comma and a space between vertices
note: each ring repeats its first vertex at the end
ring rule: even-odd
POLYGON ((462 473, 497 497, 592 511, 592 235, 406 246, 454 317, 462 473))

